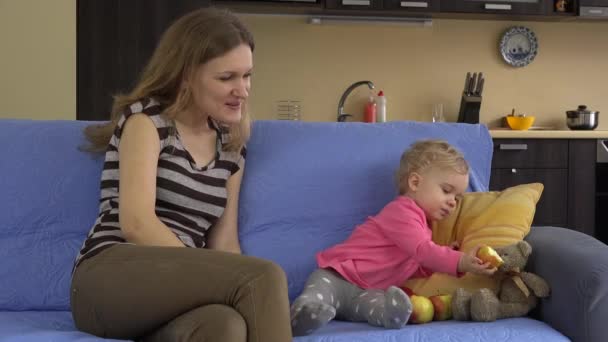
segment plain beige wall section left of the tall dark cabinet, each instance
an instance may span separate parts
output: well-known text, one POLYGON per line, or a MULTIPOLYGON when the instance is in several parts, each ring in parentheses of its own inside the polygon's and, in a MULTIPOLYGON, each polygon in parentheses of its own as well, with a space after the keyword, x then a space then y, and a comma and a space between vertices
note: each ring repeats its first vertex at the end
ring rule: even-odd
POLYGON ((0 0, 0 118, 76 118, 76 1, 0 0))

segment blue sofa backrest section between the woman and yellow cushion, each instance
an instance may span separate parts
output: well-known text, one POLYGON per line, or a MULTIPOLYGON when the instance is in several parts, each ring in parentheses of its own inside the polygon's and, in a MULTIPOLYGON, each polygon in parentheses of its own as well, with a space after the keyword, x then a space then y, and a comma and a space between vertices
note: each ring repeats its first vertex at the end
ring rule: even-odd
POLYGON ((482 125, 258 122, 241 189, 244 252, 278 262, 293 299, 315 267, 315 253, 392 200, 402 152, 431 138, 465 154, 470 190, 488 189, 492 140, 482 125))

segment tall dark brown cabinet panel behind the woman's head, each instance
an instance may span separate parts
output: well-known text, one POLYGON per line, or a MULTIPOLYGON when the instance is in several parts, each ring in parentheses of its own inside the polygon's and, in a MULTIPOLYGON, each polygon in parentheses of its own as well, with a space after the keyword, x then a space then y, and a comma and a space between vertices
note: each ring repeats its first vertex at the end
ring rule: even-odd
POLYGON ((162 32, 209 0, 78 0, 76 118, 107 120, 112 96, 134 86, 162 32))

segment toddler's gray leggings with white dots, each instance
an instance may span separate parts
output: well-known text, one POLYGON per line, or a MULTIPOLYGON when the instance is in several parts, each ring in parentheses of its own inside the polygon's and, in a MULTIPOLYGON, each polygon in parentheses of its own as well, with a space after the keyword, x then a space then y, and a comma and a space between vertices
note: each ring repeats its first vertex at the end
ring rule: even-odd
POLYGON ((411 312, 409 297, 398 287, 364 290, 333 270, 317 269, 291 306, 291 327, 294 336, 308 335, 336 318, 399 329, 411 312))

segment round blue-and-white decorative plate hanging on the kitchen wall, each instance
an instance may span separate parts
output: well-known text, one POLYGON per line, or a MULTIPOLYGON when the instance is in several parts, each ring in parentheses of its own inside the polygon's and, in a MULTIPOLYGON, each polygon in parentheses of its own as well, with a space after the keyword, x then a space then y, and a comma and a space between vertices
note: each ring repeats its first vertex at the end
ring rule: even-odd
POLYGON ((509 28, 500 39, 500 53, 514 67, 530 64, 538 53, 536 34, 523 26, 509 28))

